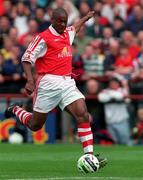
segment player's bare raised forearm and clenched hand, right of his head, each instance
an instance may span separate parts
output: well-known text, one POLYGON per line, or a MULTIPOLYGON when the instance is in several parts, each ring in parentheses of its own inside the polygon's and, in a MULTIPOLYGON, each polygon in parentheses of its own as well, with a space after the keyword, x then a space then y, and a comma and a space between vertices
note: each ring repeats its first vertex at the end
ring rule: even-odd
POLYGON ((94 15, 95 15, 95 11, 89 11, 86 16, 84 16, 78 22, 73 24, 76 33, 80 30, 80 28, 84 25, 84 23, 88 21, 90 18, 92 18, 94 15))

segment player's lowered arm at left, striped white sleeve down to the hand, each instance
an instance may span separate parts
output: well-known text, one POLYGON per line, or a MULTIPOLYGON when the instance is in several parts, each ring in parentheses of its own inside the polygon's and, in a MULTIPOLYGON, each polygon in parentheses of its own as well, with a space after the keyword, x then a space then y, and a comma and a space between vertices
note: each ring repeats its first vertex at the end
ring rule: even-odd
POLYGON ((29 95, 32 94, 35 88, 32 66, 35 64, 36 60, 39 57, 45 55, 46 51, 47 45, 44 39, 37 35, 29 44, 27 50, 22 57, 22 65, 27 79, 25 90, 29 95))

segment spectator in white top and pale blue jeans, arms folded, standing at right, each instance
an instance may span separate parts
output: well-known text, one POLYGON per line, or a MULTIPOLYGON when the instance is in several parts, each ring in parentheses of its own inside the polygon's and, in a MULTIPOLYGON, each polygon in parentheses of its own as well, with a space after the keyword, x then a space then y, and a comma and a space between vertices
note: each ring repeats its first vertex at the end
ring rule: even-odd
POLYGON ((125 103, 127 95, 126 87, 117 77, 111 78, 109 86, 98 95, 99 101, 104 103, 107 129, 117 144, 130 144, 129 112, 125 103))

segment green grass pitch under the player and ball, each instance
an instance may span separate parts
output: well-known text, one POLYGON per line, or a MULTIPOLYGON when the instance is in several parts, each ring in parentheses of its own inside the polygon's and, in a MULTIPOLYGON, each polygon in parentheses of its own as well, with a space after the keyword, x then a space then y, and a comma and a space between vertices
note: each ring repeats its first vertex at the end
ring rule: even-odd
POLYGON ((94 146, 108 164, 93 174, 81 174, 76 162, 82 155, 79 144, 0 144, 0 180, 141 180, 143 147, 94 146))

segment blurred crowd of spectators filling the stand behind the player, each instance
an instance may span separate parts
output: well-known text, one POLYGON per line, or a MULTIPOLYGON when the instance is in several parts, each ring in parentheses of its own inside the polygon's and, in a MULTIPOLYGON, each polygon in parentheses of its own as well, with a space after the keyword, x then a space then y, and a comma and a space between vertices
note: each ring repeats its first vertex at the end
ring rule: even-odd
POLYGON ((23 92, 21 57, 56 7, 68 26, 95 11, 75 37, 73 77, 89 97, 96 139, 142 143, 143 99, 130 95, 143 92, 143 0, 0 0, 0 93, 23 92))

